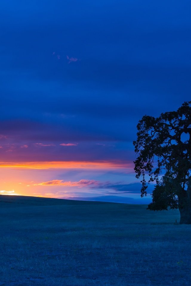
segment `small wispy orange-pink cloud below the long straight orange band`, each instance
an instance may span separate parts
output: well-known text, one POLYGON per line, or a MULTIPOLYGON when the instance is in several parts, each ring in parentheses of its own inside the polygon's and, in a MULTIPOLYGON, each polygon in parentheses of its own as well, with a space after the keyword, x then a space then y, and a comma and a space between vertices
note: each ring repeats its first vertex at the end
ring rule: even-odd
POLYGON ((84 187, 89 185, 98 185, 99 182, 95 180, 80 180, 78 182, 71 182, 71 181, 63 181, 63 180, 52 180, 47 182, 42 182, 39 184, 33 184, 32 186, 78 186, 84 187))

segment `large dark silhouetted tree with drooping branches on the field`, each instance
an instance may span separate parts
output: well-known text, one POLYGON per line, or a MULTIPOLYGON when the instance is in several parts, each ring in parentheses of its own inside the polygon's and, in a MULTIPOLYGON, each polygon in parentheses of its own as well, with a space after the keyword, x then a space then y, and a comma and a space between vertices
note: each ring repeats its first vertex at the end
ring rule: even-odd
POLYGON ((191 224, 191 101, 157 118, 143 116, 137 129, 134 170, 142 177, 141 197, 148 174, 148 183, 156 181, 148 209, 179 209, 180 223, 191 224))

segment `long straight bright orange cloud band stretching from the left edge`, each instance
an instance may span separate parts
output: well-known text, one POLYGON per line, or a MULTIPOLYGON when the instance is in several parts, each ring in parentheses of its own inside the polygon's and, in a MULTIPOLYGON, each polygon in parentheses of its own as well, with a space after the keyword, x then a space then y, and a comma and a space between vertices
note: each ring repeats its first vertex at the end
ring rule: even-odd
POLYGON ((0 168, 19 169, 88 169, 88 170, 116 170, 131 169, 133 163, 124 161, 45 161, 45 162, 0 162, 0 168))

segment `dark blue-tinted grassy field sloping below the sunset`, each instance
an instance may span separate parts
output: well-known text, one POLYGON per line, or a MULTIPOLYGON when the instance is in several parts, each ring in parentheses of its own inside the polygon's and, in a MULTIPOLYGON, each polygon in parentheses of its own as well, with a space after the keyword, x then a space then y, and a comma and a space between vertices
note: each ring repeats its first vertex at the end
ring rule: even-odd
POLYGON ((177 210, 1 195, 0 213, 0 285, 191 285, 177 210))

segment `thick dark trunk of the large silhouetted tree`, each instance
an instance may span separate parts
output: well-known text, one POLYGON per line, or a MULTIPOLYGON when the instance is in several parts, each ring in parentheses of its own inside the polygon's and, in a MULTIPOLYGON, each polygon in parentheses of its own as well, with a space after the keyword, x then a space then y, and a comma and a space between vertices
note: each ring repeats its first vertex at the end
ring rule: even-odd
POLYGON ((187 190, 178 195, 178 209, 180 211, 180 224, 191 224, 191 177, 187 190))

